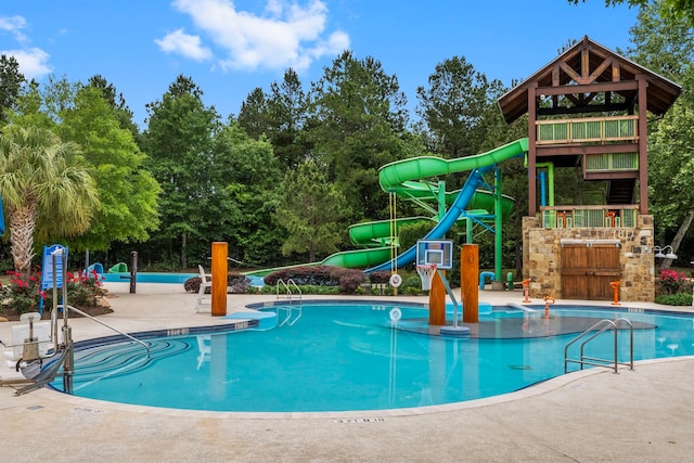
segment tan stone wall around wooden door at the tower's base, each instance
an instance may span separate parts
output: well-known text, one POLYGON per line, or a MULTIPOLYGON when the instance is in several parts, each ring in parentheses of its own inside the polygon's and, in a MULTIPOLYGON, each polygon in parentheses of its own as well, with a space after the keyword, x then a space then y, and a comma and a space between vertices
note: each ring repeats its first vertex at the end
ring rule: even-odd
POLYGON ((530 297, 550 294, 562 298, 562 240, 619 241, 621 267, 619 297, 622 301, 653 301, 655 268, 653 216, 638 216, 637 228, 545 229, 535 217, 523 218, 523 278, 529 283, 530 297))

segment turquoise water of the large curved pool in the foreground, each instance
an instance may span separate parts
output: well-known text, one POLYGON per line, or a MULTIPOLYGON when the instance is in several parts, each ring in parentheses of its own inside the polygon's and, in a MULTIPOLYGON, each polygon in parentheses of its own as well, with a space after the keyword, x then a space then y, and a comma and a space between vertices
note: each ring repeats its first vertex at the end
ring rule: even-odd
MULTIPOLYGON (((616 317, 639 327, 635 360, 694 355, 694 319, 665 312, 555 306, 547 320, 541 310, 496 307, 480 316, 480 337, 463 339, 420 333, 428 311, 419 306, 305 301, 300 307, 265 307, 262 312, 267 318, 277 314, 282 325, 149 338, 149 360, 142 347, 131 343, 88 343, 75 355, 75 395, 244 412, 459 402, 563 374, 564 347, 584 323, 616 317), (393 309, 401 312, 397 323, 391 321, 393 309)), ((628 360, 627 340, 628 333, 620 332, 620 361, 628 360)), ((613 343, 613 334, 604 334, 588 345, 587 353, 609 356, 613 343)), ((53 386, 62 389, 60 381, 53 386)))

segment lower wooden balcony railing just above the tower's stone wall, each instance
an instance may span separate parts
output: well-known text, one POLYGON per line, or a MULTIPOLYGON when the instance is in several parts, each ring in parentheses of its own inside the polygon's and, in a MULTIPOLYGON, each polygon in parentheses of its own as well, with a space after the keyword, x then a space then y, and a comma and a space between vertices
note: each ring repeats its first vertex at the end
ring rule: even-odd
POLYGON ((545 229, 635 228, 639 205, 542 206, 540 221, 545 229))

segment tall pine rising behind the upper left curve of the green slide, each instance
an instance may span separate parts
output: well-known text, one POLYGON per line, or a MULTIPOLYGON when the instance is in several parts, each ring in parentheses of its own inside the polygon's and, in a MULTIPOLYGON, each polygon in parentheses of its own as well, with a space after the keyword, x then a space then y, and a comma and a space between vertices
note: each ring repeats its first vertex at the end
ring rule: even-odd
POLYGON ((357 60, 349 51, 312 85, 305 140, 348 198, 352 221, 387 218, 377 171, 403 156, 406 102, 396 76, 377 60, 357 60))

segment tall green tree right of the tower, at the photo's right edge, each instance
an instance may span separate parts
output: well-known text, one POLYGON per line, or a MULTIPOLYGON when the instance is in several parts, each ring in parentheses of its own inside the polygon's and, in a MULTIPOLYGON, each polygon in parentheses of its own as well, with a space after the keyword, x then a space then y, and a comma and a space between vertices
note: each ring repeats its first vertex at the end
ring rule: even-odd
MULTIPOLYGON (((644 5, 630 29, 626 54, 683 86, 665 116, 648 125, 648 197, 655 217, 656 240, 671 240, 674 252, 694 219, 694 36, 686 20, 664 20, 658 12, 667 1, 644 5)), ((663 268, 671 260, 666 259, 663 268)))

